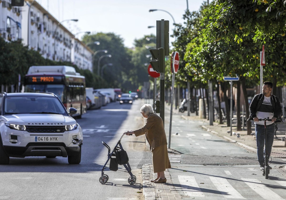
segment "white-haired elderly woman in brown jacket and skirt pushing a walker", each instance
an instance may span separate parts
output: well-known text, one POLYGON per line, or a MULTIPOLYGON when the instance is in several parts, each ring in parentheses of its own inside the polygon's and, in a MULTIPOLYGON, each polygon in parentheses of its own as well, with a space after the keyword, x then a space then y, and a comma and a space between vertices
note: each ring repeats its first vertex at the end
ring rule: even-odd
POLYGON ((145 134, 146 139, 150 145, 150 152, 152 152, 152 163, 154 173, 157 173, 157 178, 151 180, 154 183, 166 183, 164 171, 171 168, 168 149, 167 138, 164 129, 163 120, 160 116, 154 114, 153 108, 149 104, 144 104, 141 109, 141 114, 146 119, 146 124, 137 130, 127 131, 125 134, 135 134, 135 136, 145 134))

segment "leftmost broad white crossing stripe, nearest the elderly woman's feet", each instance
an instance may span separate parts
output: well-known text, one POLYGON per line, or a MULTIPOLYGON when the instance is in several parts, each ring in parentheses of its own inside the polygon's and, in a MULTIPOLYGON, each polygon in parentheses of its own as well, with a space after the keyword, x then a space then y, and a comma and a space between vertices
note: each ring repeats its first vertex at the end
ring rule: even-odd
POLYGON ((184 194, 191 197, 204 197, 204 193, 198 187, 196 183, 196 179, 194 176, 178 176, 180 185, 184 185, 182 188, 178 188, 178 190, 184 191, 184 194), (189 186, 190 188, 186 188, 185 186, 189 186))

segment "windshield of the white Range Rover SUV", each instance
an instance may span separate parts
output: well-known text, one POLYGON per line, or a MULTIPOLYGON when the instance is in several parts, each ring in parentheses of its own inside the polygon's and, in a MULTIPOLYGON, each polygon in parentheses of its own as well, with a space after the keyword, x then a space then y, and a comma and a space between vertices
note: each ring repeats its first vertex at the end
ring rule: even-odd
POLYGON ((51 113, 68 115, 65 107, 56 97, 5 97, 4 114, 51 113))

